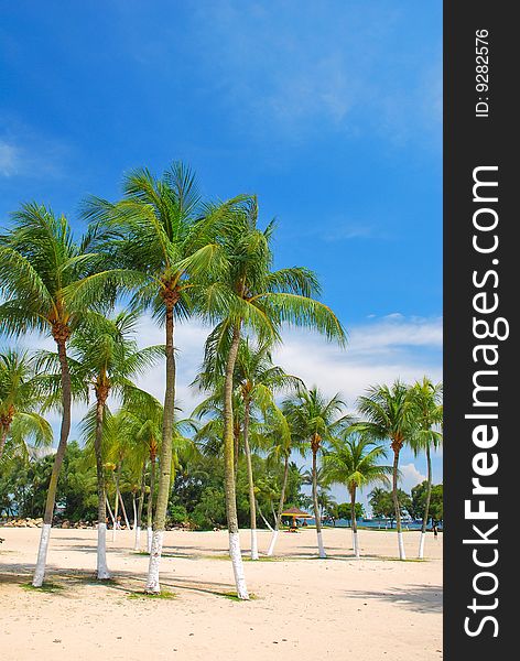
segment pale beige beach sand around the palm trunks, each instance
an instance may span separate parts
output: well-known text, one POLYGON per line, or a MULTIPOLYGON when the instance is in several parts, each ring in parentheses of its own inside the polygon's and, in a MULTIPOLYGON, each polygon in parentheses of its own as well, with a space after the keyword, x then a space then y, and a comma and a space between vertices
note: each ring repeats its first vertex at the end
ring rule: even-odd
MULTIPOLYGON (((30 589, 39 529, 0 528, 0 658, 3 661, 124 659, 357 659, 429 661, 442 658, 442 534, 429 534, 426 560, 399 562, 396 533, 326 529, 328 557, 315 556, 314 530, 280 534, 275 560, 246 562, 250 602, 236 602, 226 559, 227 533, 165 534, 162 587, 170 599, 141 596, 148 557, 133 533, 108 533, 117 579, 97 584, 95 530, 53 530, 46 581, 30 589)), ((145 543, 144 534, 142 543, 145 543)), ((242 549, 249 533, 241 531, 242 549)), ((270 533, 259 532, 260 551, 270 533)), ((419 534, 404 534, 415 557, 419 534)))

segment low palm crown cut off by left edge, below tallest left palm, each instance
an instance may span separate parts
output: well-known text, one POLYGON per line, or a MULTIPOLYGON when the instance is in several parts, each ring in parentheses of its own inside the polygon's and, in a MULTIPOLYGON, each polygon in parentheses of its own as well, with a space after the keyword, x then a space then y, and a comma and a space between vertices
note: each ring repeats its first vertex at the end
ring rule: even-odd
POLYGON ((48 446, 53 432, 40 414, 40 391, 33 361, 26 351, 7 349, 0 354, 0 459, 8 436, 26 454, 26 440, 48 446))

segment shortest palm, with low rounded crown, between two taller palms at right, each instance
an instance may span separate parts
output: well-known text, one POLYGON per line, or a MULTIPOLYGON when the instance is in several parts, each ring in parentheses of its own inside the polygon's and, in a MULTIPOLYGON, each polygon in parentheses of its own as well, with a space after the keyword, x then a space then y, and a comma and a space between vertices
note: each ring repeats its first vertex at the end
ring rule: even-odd
POLYGON ((373 483, 390 484, 388 475, 391 475, 392 467, 381 466, 379 463, 386 456, 383 445, 377 445, 366 434, 347 427, 331 442, 331 451, 323 457, 325 481, 345 485, 350 496, 353 546, 356 557, 359 557, 356 492, 357 489, 373 483))

